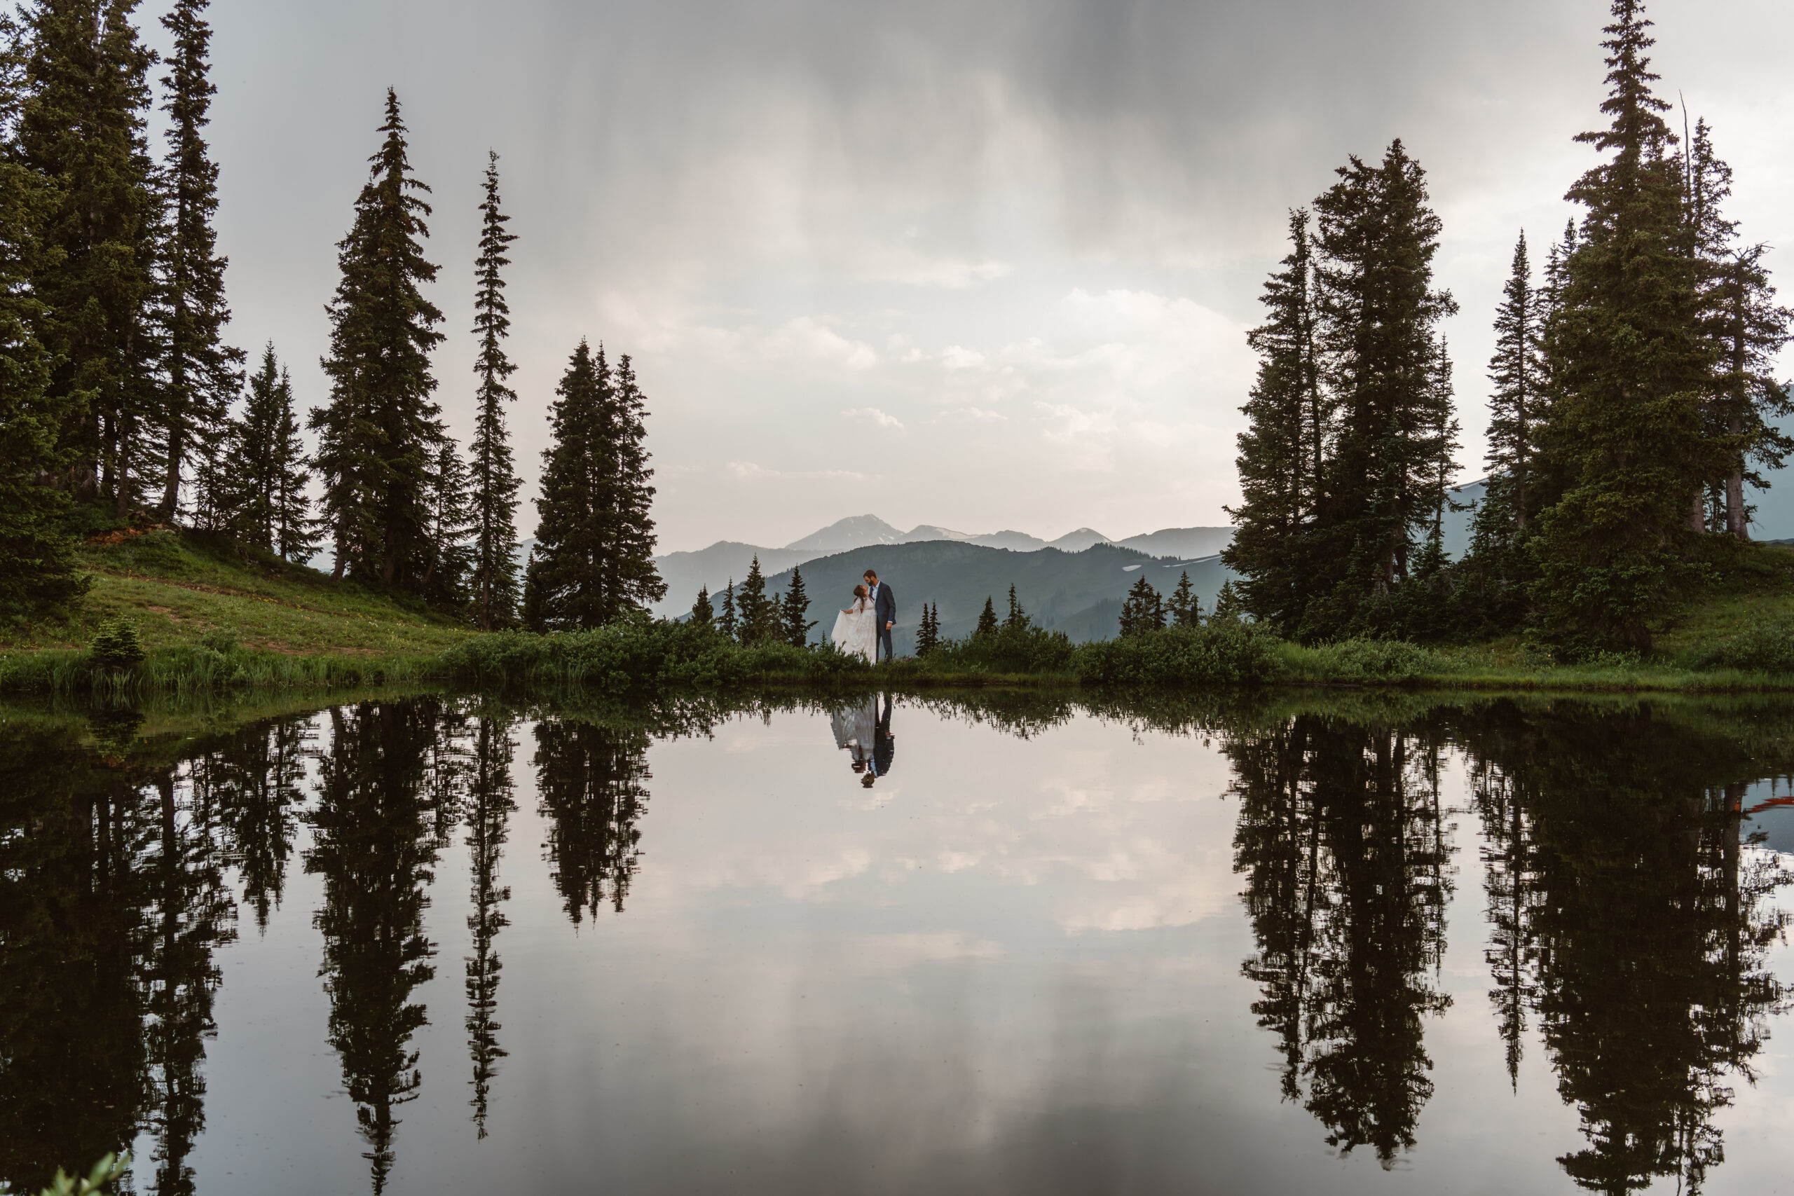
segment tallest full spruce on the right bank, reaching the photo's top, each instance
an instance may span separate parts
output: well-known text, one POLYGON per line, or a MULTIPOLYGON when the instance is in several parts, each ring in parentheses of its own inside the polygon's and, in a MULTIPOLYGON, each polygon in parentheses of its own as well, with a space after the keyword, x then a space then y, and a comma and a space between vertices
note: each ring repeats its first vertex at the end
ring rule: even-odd
POLYGON ((1650 91, 1649 29, 1640 0, 1613 2, 1609 126, 1577 136, 1611 160, 1568 195, 1584 217, 1552 317, 1550 427, 1566 493, 1530 542, 1545 631, 1568 646, 1640 651, 1703 576, 1690 524, 1728 457, 1704 427, 1711 350, 1699 334, 1668 104, 1650 91))

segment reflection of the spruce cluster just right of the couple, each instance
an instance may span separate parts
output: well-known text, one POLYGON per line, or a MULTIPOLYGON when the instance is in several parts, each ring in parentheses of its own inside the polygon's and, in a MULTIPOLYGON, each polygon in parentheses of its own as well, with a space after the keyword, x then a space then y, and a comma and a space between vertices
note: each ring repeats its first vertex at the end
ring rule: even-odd
POLYGON ((1245 974, 1279 1036, 1283 1092, 1340 1153, 1383 1166, 1414 1146, 1432 1096, 1423 1018, 1450 997, 1444 950, 1450 843, 1437 750, 1394 730, 1297 715, 1231 737, 1236 870, 1258 954, 1245 974))

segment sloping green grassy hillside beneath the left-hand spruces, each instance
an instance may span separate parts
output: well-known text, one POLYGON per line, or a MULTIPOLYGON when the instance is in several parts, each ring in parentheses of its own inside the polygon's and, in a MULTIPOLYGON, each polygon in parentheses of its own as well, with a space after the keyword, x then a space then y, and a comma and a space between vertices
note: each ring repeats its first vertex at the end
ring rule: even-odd
POLYGON ((135 620, 149 649, 199 644, 217 629, 248 649, 371 658, 436 654, 470 635, 416 602, 192 533, 84 543, 79 559, 93 590, 75 619, 0 624, 0 651, 84 647, 113 615, 135 620))

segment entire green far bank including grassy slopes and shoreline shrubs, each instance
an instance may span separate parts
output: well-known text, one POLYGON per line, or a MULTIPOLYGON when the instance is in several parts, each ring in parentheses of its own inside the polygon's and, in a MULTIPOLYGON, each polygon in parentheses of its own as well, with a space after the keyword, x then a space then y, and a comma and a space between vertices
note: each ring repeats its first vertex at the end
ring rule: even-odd
POLYGON ((1161 633, 1071 646, 1041 631, 962 644, 929 660, 868 667, 825 649, 734 647, 696 628, 628 624, 581 635, 484 637, 413 599, 334 583, 192 533, 83 545, 93 590, 66 622, 0 624, 0 690, 151 692, 359 689, 457 683, 648 689, 858 690, 1213 689, 1234 683, 1459 690, 1794 690, 1794 550, 1751 545, 1713 592, 1645 656, 1581 663, 1520 637, 1466 647, 1401 642, 1286 644, 1258 631, 1161 633), (99 669, 88 651, 111 619, 135 624, 147 658, 99 669))

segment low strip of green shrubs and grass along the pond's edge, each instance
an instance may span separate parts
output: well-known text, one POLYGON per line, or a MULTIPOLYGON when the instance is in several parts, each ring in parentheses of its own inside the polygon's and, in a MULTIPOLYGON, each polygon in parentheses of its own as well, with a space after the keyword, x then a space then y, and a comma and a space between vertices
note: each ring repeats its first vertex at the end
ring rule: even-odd
POLYGON ((1611 654, 1564 663, 1539 649, 1426 647, 1405 640, 1302 646, 1263 624, 1211 619, 1073 644, 1060 631, 1003 626, 942 640, 922 658, 872 665, 831 646, 739 644, 694 622, 628 617, 594 631, 495 631, 440 653, 289 654, 199 644, 145 649, 127 619, 86 651, 0 653, 0 692, 129 698, 149 692, 450 685, 572 687, 610 696, 753 687, 1073 687, 1193 690, 1261 685, 1563 690, 1794 690, 1794 622, 1747 622, 1677 656, 1611 654))

